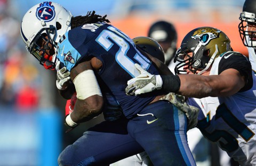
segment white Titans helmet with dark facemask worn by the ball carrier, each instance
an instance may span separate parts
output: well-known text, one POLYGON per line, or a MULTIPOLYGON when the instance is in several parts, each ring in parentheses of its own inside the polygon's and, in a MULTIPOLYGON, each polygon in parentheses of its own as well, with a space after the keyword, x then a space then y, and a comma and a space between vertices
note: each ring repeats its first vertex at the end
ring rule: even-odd
POLYGON ((60 38, 71 29, 72 16, 64 7, 53 2, 37 4, 23 16, 21 37, 29 53, 46 69, 54 69, 55 62, 52 62, 52 55, 47 55, 45 50, 49 50, 49 43, 56 49, 60 38), (46 44, 41 48, 43 40, 46 44))

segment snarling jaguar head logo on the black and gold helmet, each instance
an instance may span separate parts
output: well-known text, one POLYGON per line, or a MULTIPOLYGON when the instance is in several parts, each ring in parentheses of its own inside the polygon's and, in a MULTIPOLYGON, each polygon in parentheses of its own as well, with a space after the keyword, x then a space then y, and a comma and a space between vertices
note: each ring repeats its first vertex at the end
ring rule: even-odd
POLYGON ((219 38, 220 30, 213 28, 203 28, 196 30, 191 38, 199 39, 199 42, 202 42, 202 45, 207 45, 212 39, 219 38))

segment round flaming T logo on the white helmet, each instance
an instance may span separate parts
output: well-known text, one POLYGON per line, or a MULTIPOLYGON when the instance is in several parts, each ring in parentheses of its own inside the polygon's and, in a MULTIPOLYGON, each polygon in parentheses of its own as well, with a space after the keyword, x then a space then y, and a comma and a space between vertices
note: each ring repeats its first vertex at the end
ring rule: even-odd
POLYGON ((38 20, 49 22, 54 18, 54 16, 55 10, 52 2, 43 2, 36 9, 36 17, 38 20))

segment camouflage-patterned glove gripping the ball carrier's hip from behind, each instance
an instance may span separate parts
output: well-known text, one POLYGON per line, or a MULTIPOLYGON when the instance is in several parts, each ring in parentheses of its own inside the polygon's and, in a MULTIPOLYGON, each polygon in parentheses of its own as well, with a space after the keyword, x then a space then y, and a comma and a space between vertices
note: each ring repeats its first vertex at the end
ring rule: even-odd
POLYGON ((196 127, 199 109, 193 106, 189 106, 185 102, 185 97, 175 93, 168 93, 159 100, 170 101, 175 107, 186 113, 186 116, 188 118, 187 130, 196 127))

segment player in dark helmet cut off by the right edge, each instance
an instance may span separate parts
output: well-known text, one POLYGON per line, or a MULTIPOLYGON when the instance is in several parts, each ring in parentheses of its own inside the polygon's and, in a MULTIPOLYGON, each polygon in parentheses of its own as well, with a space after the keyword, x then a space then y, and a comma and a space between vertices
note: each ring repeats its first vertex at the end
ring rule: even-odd
POLYGON ((240 14, 238 25, 240 37, 247 47, 249 60, 252 64, 252 69, 256 74, 256 2, 253 0, 245 0, 243 12, 240 14))

